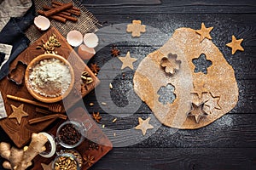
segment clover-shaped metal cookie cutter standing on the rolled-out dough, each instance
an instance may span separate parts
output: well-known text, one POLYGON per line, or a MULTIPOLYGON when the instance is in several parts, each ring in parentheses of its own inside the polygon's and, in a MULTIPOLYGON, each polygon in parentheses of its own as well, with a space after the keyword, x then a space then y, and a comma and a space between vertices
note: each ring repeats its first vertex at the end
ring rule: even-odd
POLYGON ((181 60, 177 60, 177 54, 168 54, 167 57, 163 57, 160 60, 161 67, 164 68, 166 73, 171 73, 171 75, 179 70, 180 64, 181 60))

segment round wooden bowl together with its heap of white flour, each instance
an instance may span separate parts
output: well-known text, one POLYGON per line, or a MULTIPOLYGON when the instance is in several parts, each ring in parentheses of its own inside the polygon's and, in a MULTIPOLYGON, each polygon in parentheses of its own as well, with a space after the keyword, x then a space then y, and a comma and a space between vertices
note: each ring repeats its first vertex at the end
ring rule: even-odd
POLYGON ((27 65, 25 84, 35 99, 54 103, 71 92, 74 84, 73 68, 61 55, 42 54, 27 65))

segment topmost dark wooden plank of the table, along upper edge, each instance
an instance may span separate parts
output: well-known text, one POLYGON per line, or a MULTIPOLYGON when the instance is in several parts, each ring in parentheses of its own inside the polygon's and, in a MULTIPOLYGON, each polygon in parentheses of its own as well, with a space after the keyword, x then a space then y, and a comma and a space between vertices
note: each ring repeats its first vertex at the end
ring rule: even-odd
POLYGON ((136 4, 129 3, 129 0, 113 2, 113 0, 105 1, 105 3, 101 0, 83 0, 84 6, 93 14, 252 14, 255 13, 256 4, 253 0, 161 0, 160 4, 153 5, 148 4, 147 0, 138 1, 136 4))

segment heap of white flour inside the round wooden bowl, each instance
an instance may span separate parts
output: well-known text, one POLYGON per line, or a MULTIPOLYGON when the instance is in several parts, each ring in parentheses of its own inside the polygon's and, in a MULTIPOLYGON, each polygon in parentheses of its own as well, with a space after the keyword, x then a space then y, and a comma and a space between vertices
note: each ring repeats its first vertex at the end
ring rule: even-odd
POLYGON ((68 66, 59 59, 41 60, 29 75, 32 89, 45 97, 64 94, 71 82, 68 66))

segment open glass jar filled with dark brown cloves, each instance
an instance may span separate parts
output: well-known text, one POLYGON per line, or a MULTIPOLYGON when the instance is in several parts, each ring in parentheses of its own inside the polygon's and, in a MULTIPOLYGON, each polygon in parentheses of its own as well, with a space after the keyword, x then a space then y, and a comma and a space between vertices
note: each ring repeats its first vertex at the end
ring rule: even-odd
POLYGON ((79 122, 63 122, 57 129, 57 140, 65 148, 75 148, 84 140, 79 122))

